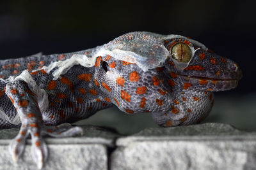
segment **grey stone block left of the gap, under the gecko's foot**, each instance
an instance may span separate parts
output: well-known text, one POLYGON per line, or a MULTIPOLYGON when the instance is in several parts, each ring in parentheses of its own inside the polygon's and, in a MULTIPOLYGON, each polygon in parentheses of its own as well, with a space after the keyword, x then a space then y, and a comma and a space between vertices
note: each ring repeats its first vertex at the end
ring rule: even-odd
MULTIPOLYGON (((108 147, 113 148, 118 136, 113 131, 95 126, 83 126, 83 136, 73 138, 45 138, 49 157, 44 169, 108 169, 108 147)), ((31 157, 30 139, 19 165, 8 151, 10 139, 19 129, 0 131, 0 169, 37 169, 31 157)))

